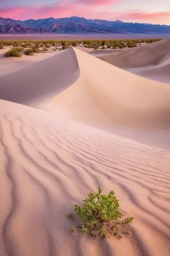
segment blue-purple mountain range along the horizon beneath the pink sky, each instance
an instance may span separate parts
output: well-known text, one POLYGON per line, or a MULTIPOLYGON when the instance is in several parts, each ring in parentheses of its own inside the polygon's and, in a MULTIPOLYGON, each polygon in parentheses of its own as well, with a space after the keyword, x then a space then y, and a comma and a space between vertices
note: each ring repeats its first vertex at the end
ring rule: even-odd
POLYGON ((168 25, 110 22, 83 17, 27 19, 0 17, 0 33, 170 33, 168 25))

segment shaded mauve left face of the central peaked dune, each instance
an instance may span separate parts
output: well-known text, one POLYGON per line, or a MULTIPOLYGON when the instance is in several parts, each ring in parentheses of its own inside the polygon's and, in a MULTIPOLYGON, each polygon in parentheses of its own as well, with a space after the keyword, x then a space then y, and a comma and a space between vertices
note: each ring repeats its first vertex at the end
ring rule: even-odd
POLYGON ((1 99, 46 110, 54 95, 78 77, 77 58, 70 48, 0 77, 1 99))

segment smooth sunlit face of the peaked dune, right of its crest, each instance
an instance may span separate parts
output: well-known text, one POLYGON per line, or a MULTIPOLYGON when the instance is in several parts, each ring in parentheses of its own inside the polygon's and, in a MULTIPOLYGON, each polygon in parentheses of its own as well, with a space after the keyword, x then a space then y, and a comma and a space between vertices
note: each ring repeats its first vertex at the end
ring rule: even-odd
POLYGON ((74 49, 80 77, 56 95, 50 111, 90 124, 169 127, 170 88, 74 49))

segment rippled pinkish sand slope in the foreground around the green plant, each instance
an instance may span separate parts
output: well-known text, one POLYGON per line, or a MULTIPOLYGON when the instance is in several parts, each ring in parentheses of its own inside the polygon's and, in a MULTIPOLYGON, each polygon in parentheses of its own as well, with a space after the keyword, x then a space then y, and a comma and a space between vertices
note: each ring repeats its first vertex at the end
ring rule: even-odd
POLYGON ((0 135, 2 256, 169 255, 169 152, 6 101, 0 135), (69 231, 98 185, 135 217, 122 240, 69 231))

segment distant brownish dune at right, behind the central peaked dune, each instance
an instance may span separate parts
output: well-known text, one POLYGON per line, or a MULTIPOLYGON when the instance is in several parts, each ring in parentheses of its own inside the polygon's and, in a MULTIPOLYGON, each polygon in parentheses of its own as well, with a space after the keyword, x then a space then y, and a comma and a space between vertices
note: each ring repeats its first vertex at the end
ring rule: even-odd
POLYGON ((98 58, 133 74, 170 83, 170 37, 152 44, 125 49, 124 52, 105 53, 98 58))

